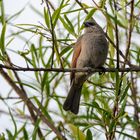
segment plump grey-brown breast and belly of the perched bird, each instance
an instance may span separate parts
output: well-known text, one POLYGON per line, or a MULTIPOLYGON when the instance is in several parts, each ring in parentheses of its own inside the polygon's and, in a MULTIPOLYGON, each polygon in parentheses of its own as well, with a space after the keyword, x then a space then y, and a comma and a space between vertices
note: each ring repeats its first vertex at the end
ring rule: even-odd
POLYGON ((78 58, 79 66, 100 67, 105 63, 108 43, 103 34, 85 34, 81 42, 81 54, 78 58))

